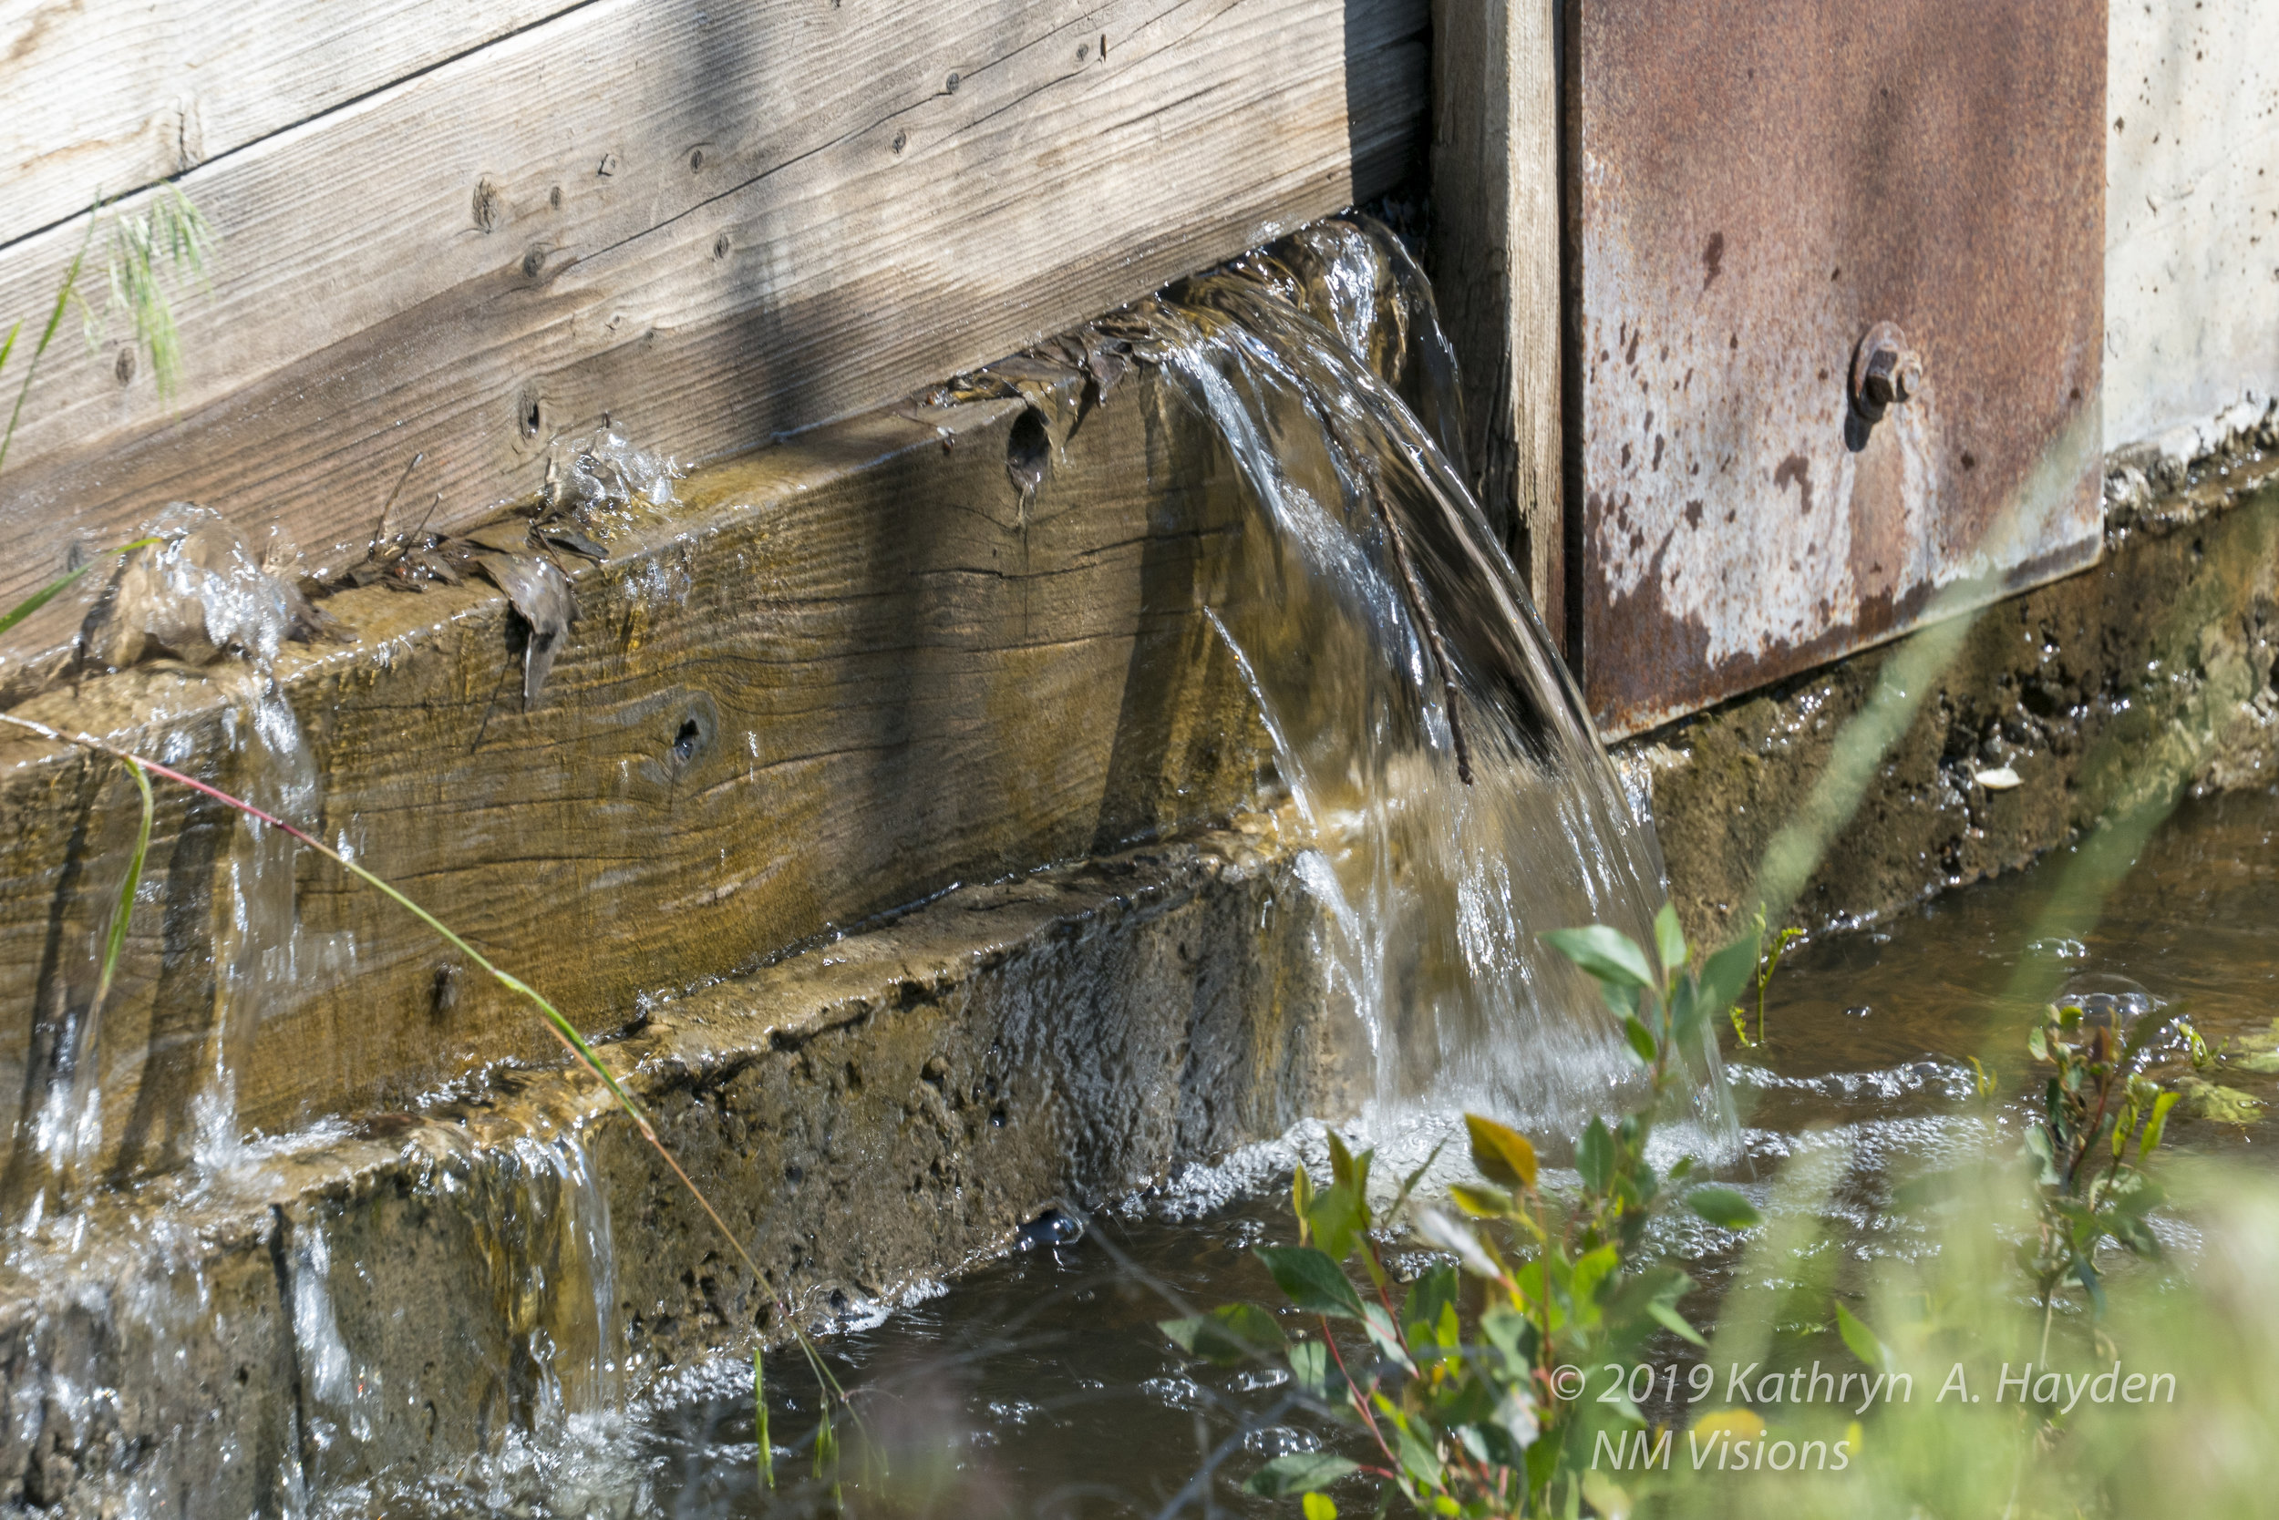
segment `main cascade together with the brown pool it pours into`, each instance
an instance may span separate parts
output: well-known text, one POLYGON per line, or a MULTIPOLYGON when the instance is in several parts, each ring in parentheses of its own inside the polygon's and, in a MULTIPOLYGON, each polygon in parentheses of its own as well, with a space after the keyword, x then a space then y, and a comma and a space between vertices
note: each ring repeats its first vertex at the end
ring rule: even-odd
MULTIPOLYGON (((1418 294, 1388 239, 1329 228, 1119 326, 1144 333, 1140 353, 1217 426, 1249 490, 1251 531, 1222 565, 1212 615, 1313 834, 1306 882, 1338 923, 1340 971, 1377 1041, 1377 1103, 1351 1135, 1381 1146, 1379 1178, 1424 1160, 1461 1108, 1500 1110, 1557 1146, 1577 1114, 1620 1103, 1625 1067, 1591 989, 1531 937, 1586 921, 1643 937, 1661 896, 1650 825, 1440 438, 1456 428, 1418 294)), ((1769 1039, 1739 1051, 1730 1073, 1714 1048, 1700 1055, 1698 1123, 1680 1133, 1775 1228, 1807 1224, 1835 1262, 1828 1274, 1923 1251, 1919 1226, 1892 1208, 1894 1185, 1983 1153, 2017 1123, 2021 987, 2192 998, 2217 1046, 2279 1035, 2279 795, 2188 804, 2094 930, 2051 937, 2074 864, 2058 852, 1791 953, 1769 1039), (1974 1060, 2001 1085, 1999 1110, 1980 1098, 1974 1060), (1816 1185, 1775 1185, 1798 1176, 1816 1185)), ((2247 1067, 2227 1080, 2279 1096, 2247 1067)), ((2252 1151, 2272 1135, 2261 1121, 2195 1119, 2172 1133, 2199 1151, 2252 1151)), ((1078 1240, 1016 1251, 868 1317, 818 1322, 864 1427, 841 1431, 850 1456, 827 1479, 809 1465, 820 1388, 777 1351, 775 1490, 759 1481, 752 1367, 732 1356, 672 1374, 552 1449, 431 1474, 412 1509, 1272 1513, 1240 1479, 1338 1431, 1301 1415, 1279 1374, 1181 1356, 1155 1322, 1274 1301, 1249 1251, 1292 1240, 1290 1167, 1320 1174, 1324 1151, 1322 1128, 1301 1126, 1101 1210, 1078 1240)), ((1427 1190, 1465 1171, 1459 1144, 1427 1190)), ((2183 1226, 2160 1228, 2190 1244, 2183 1226)), ((1700 1283, 1686 1310, 1714 1322, 1741 1281, 1739 1237, 1673 1217, 1652 1240, 1700 1283)), ((1821 1290, 1832 1281, 1798 1272, 1821 1290)), ((1655 1356, 1693 1354, 1671 1340, 1655 1356)))

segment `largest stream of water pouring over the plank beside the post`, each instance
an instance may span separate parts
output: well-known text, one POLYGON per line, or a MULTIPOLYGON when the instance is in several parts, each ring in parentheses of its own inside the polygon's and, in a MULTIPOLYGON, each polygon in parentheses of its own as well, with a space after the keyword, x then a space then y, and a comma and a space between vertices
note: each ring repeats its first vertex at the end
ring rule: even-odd
MULTIPOLYGON (((1648 941, 1661 855, 1452 458, 1454 367, 1422 273, 1383 228, 1326 223, 1126 324, 1244 485, 1210 618, 1310 832, 1301 873, 1379 1105, 1573 1133, 1636 1067, 1538 934, 1648 941)), ((1714 1041, 1689 1060, 1696 1117, 1730 1133, 1714 1041)))

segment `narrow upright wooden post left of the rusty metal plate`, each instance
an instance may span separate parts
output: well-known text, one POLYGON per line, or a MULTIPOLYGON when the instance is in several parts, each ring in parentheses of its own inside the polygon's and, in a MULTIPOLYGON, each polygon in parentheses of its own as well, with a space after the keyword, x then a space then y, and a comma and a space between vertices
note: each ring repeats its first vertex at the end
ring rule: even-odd
POLYGON ((1563 638, 1552 5, 1436 0, 1433 36, 1431 276, 1463 369, 1468 463, 1563 638))

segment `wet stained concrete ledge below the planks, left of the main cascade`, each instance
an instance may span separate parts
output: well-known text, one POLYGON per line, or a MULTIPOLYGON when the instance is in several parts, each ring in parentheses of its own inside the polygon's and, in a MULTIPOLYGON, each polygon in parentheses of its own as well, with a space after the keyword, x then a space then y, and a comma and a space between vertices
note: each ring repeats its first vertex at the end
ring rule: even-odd
POLYGON ((891 1301, 1055 1201, 1349 1112, 1367 1046, 1285 827, 957 889, 604 1044, 763 1281, 565 1069, 98 1201, 80 1258, 0 1274, 0 1502, 246 1515, 449 1477, 542 1429, 549 1390, 593 1399, 595 1351, 634 1392, 784 1340, 786 1310, 891 1301))

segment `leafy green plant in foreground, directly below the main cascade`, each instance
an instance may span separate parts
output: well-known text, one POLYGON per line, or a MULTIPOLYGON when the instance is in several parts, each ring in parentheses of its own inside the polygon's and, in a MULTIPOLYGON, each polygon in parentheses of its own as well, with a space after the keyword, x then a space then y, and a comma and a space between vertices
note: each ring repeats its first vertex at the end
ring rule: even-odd
MULTIPOLYGON (((1586 1399, 1586 1388, 1561 1370, 1625 1363, 1661 1331, 1700 1342, 1677 1310, 1693 1281, 1643 1256, 1648 1221, 1693 1164, 1680 1160, 1661 1176, 1648 1142, 1682 1078, 1682 1053, 1698 1048, 1709 1014, 1739 996, 1757 966, 1757 941, 1741 939, 1693 969, 1668 907, 1655 918, 1652 957, 1604 925, 1545 939, 1598 982, 1648 1078, 1639 1110, 1614 1126, 1593 1119, 1577 1137, 1579 1190, 1547 1196, 1534 1144, 1470 1114, 1472 1164, 1486 1183, 1452 1196, 1472 1219, 1502 1226, 1497 1244, 1438 1208, 1402 1217, 1422 1167, 1383 1210, 1372 1210, 1372 1153, 1354 1155, 1331 1135, 1329 1180, 1317 1183, 1304 1167, 1292 1178, 1299 1244, 1258 1251, 1283 1297, 1317 1317, 1320 1333, 1285 1335, 1279 1317, 1256 1304, 1162 1322, 1196 1356, 1283 1363, 1299 1395, 1354 1433, 1361 1461, 1297 1452, 1249 1479, 1260 1495, 1301 1495, 1308 1520, 1333 1520, 1335 1499, 1324 1488, 1356 1472, 1379 1486, 1381 1502, 1399 1493, 1438 1515, 1575 1513, 1586 1490, 1604 1509, 1593 1443, 1609 1427, 1627 1436, 1645 1420, 1623 1388, 1609 1390, 1611 1399, 1586 1399), (1454 1262, 1395 1292, 1379 1240, 1404 1226, 1454 1262), (1347 1262, 1358 1262, 1361 1283, 1347 1262)), ((1757 1224, 1750 1203, 1725 1187, 1693 1187, 1686 1206, 1725 1228, 1757 1224)))

